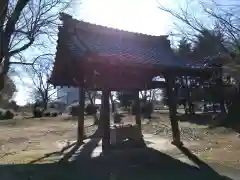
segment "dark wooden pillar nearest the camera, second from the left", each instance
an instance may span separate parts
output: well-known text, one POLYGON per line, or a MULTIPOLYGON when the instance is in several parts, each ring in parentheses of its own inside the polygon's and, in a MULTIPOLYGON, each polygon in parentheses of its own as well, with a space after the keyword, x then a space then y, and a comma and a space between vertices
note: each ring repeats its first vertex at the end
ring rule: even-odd
POLYGON ((110 147, 110 105, 109 94, 111 91, 104 89, 102 91, 102 115, 101 123, 103 127, 102 151, 103 153, 109 150, 110 147))

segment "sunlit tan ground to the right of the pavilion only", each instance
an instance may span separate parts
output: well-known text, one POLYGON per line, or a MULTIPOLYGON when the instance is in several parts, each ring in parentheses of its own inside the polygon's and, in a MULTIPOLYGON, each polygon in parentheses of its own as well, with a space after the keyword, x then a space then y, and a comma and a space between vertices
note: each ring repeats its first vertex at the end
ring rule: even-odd
MULTIPOLYGON (((167 113, 155 115, 160 118, 144 126, 144 131, 161 137, 172 133, 167 113), (155 129, 155 130, 154 130, 155 129)), ((218 127, 211 129, 209 124, 179 122, 181 138, 189 150, 205 162, 240 169, 240 136, 232 129, 218 127), (185 143, 185 144, 186 144, 185 143)))

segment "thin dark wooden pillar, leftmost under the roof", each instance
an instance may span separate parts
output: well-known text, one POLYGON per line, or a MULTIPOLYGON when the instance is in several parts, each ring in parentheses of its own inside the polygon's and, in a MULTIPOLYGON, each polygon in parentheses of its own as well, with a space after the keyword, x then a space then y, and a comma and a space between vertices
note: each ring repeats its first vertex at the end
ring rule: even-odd
POLYGON ((85 107, 85 90, 79 88, 79 109, 78 109, 78 126, 77 126, 77 143, 83 143, 84 139, 84 107, 85 107))

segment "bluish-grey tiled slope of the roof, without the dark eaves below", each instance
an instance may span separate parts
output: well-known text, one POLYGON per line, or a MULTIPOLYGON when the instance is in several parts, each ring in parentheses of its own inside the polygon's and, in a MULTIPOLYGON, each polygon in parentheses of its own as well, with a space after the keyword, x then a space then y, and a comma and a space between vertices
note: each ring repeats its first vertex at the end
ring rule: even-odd
POLYGON ((187 60, 175 56, 167 36, 117 30, 78 21, 66 14, 61 17, 63 29, 68 33, 66 43, 76 56, 90 52, 131 63, 187 67, 187 60))

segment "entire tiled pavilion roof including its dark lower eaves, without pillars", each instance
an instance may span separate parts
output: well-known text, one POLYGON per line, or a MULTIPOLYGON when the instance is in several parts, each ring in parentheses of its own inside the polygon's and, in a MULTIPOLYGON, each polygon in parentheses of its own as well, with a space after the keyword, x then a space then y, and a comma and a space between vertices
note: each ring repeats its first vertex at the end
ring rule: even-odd
MULTIPOLYGON (((56 59, 49 80, 54 85, 79 86, 84 82, 82 85, 88 88, 102 88, 106 84, 116 90, 143 88, 152 76, 161 75, 163 71, 187 69, 199 74, 206 69, 204 64, 197 65, 191 60, 177 57, 167 36, 117 30, 78 21, 66 14, 62 14, 61 20, 63 24, 59 28, 56 59), (94 62, 76 62, 84 59, 81 57, 94 62), (108 74, 112 79, 108 79, 108 74), (145 74, 145 79, 142 74, 145 74), (114 80, 116 78, 118 83, 114 80)), ((188 75, 189 71, 184 73, 188 75)))

